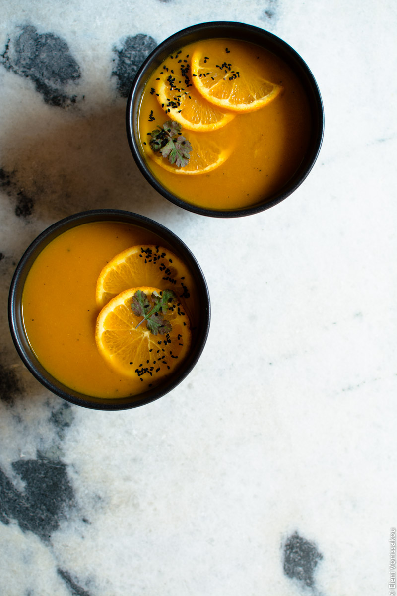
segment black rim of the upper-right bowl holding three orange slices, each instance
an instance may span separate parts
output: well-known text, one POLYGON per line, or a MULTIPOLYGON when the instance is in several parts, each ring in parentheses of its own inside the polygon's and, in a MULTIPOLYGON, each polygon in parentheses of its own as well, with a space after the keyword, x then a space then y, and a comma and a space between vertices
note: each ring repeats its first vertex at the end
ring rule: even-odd
MULTIPOLYGON (((210 36, 209 36, 210 37, 210 36)), ((225 37, 227 37, 225 35, 225 37)), ((307 63, 301 57, 301 55, 296 52, 295 49, 292 48, 287 42, 283 39, 279 38, 278 36, 274 35, 265 29, 261 29, 260 27, 256 27, 251 24, 247 23, 240 23, 239 21, 208 21, 206 23, 199 23, 185 29, 182 29, 164 41, 162 41, 154 50, 146 57, 143 61, 139 69, 137 70, 135 77, 133 79, 130 92, 127 98, 127 105, 126 105, 126 129, 127 129, 127 139, 130 147, 130 151, 132 153, 133 159, 135 160, 137 166, 139 167, 140 172, 145 176, 146 180, 158 191, 163 197, 167 198, 171 203, 176 204, 182 209, 186 209, 187 211, 198 213, 199 215, 205 215, 209 217, 218 217, 218 218, 235 218, 235 217, 243 217, 247 215, 254 215, 255 213, 260 213, 274 205, 280 203, 281 201, 285 200, 285 198, 289 197, 295 190, 304 182, 307 178, 309 173, 312 170, 315 162, 317 161, 318 154, 320 153, 321 145, 323 143, 324 137, 324 107, 323 107, 323 100, 321 98, 320 89, 318 89, 317 82, 309 69, 307 63), (179 42, 181 38, 199 33, 199 32, 215 32, 217 30, 217 37, 219 37, 219 29, 227 30, 227 29, 235 29, 243 31, 243 32, 252 32, 257 33, 258 35, 264 36, 269 41, 271 41, 274 45, 279 46, 282 48, 283 52, 289 54, 289 57, 295 61, 295 63, 299 64, 299 67, 302 69, 302 72, 305 73, 308 82, 310 82, 311 91, 315 100, 315 105, 317 108, 317 135, 315 137, 314 142, 314 150, 312 151, 311 161, 308 163, 304 172, 292 185, 292 187, 287 188, 286 191, 281 191, 280 194, 276 195, 273 200, 267 201, 266 203, 258 203, 251 207, 242 207, 241 209, 208 209, 207 207, 199 207, 197 205, 188 203, 184 201, 182 198, 177 197, 167 188, 162 186, 160 182, 158 182, 157 178, 152 174, 151 170, 149 170, 148 166, 146 166, 145 159, 143 159, 142 154, 139 150, 139 144, 136 141, 134 130, 133 130, 133 107, 136 101, 139 101, 140 94, 139 94, 139 83, 143 76, 145 79, 147 78, 146 69, 151 65, 152 60, 157 58, 160 54, 162 54, 165 49, 167 49, 170 45, 176 44, 179 42), (137 97, 138 96, 138 97, 137 97)))

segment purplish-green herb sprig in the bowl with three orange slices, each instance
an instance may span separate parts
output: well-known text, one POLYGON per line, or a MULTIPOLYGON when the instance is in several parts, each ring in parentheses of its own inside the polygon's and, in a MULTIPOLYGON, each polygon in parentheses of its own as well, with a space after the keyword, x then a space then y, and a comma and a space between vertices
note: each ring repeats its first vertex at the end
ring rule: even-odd
POLYGON ((178 122, 167 120, 151 132, 149 140, 149 145, 155 153, 160 151, 162 157, 168 157, 168 161, 177 167, 187 166, 192 151, 192 145, 180 132, 181 128, 178 122))

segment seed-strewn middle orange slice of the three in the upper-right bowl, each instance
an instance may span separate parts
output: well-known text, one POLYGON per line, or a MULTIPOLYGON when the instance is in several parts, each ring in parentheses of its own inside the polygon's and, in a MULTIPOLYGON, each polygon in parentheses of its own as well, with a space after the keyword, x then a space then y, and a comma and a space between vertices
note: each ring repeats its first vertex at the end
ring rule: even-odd
POLYGON ((155 91, 161 107, 171 120, 187 131, 216 131, 233 120, 235 114, 225 113, 199 94, 190 80, 190 64, 178 56, 169 57, 157 80, 155 91), (169 66, 167 66, 167 64, 169 66))

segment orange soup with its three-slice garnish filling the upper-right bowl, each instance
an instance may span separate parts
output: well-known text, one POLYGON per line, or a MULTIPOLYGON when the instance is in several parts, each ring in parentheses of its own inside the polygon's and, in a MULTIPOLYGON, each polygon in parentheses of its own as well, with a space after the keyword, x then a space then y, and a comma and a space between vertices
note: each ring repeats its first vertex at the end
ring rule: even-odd
POLYGON ((140 143, 171 193, 207 209, 254 206, 294 175, 311 135, 293 70, 245 41, 207 39, 168 56, 139 107, 140 143))

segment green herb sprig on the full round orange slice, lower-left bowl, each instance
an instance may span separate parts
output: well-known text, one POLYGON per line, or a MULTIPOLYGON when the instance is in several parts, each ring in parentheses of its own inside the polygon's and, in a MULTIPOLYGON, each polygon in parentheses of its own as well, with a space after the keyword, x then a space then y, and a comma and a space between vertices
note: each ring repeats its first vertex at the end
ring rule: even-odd
POLYGON ((170 333, 172 325, 163 316, 170 308, 170 303, 176 303, 176 295, 172 290, 162 290, 161 296, 152 293, 151 299, 142 290, 137 290, 133 295, 131 308, 136 316, 143 316, 143 319, 135 328, 146 321, 148 330, 153 335, 170 333))

